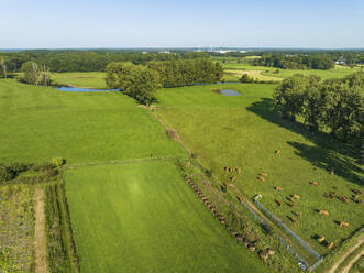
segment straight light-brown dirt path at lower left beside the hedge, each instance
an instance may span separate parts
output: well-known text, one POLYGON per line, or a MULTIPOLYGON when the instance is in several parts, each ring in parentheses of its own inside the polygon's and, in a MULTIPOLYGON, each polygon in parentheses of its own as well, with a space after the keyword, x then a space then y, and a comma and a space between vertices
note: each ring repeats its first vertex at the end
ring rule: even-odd
POLYGON ((46 273, 46 243, 45 243, 45 225, 44 225, 44 190, 36 188, 34 193, 34 252, 35 252, 35 273, 46 273))

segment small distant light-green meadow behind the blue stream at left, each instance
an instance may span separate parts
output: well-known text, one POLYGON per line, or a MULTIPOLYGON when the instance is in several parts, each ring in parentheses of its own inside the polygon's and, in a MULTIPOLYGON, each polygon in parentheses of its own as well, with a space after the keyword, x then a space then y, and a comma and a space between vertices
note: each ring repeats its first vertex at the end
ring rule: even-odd
POLYGON ((108 88, 104 78, 106 73, 103 72, 52 73, 51 76, 53 85, 77 86, 97 89, 108 88))

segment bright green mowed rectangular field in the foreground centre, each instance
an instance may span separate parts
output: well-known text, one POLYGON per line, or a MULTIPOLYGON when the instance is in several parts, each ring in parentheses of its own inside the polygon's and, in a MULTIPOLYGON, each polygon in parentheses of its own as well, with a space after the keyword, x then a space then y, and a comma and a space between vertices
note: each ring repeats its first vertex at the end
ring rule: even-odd
POLYGON ((80 167, 65 181, 82 272, 268 272, 172 161, 80 167))

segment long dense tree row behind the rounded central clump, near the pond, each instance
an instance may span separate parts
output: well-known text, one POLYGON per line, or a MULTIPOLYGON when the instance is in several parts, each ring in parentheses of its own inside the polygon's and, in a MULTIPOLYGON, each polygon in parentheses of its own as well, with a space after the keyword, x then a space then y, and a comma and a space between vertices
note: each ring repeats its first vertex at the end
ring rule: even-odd
POLYGON ((223 76, 221 64, 207 58, 151 62, 147 66, 158 72, 163 87, 218 83, 223 76))

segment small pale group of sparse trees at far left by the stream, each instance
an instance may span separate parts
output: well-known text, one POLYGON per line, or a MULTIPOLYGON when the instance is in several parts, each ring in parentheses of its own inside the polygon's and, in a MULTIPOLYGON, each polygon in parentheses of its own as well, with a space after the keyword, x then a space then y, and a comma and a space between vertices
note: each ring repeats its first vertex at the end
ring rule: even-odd
POLYGON ((43 64, 38 65, 35 62, 26 62, 22 65, 21 72, 23 73, 22 80, 30 85, 51 85, 49 68, 43 64))

